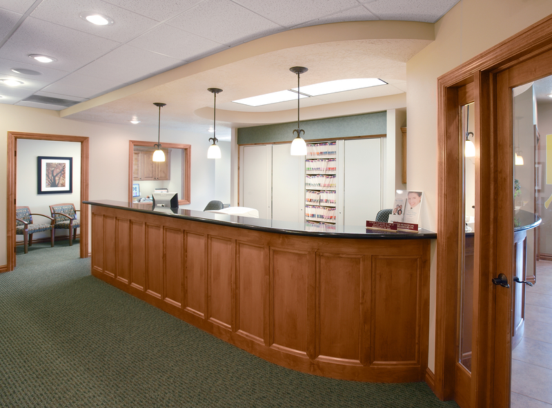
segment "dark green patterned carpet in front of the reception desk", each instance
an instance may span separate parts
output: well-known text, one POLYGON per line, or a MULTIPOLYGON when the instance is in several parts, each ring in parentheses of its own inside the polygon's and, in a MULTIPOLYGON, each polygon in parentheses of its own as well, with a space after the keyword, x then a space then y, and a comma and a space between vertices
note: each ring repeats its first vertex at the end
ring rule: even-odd
POLYGON ((252 356, 92 277, 78 241, 19 252, 0 273, 0 407, 457 407, 424 382, 333 380, 252 356))

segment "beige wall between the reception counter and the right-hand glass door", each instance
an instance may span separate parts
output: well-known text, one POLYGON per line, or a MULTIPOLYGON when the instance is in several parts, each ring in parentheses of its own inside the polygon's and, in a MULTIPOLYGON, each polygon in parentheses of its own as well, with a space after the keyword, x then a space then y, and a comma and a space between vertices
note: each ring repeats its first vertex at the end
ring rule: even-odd
MULTIPOLYGON (((423 190, 421 223, 437 230, 437 77, 552 13, 550 0, 461 0, 435 24, 435 41, 406 64, 408 189, 423 190)), ((435 369, 435 252, 430 352, 435 369)))

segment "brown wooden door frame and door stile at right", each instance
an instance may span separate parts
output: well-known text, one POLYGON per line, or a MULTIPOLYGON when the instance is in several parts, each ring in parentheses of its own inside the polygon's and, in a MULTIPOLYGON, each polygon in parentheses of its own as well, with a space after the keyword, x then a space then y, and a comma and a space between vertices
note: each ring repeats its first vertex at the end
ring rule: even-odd
MULTIPOLYGON (((502 228, 497 213, 513 201, 502 170, 505 148, 498 144, 504 135, 497 130, 497 74, 522 64, 531 57, 552 49, 552 15, 506 39, 465 64, 442 75, 437 80, 439 146, 438 215, 437 215, 437 279, 435 312, 435 394, 442 400, 455 398, 454 371, 456 360, 456 307, 458 267, 457 237, 461 220, 455 197, 459 194, 457 164, 460 161, 460 135, 457 103, 459 89, 471 82, 474 88, 475 129, 480 135, 475 141, 475 264, 473 296, 473 365, 471 376, 471 407, 502 407, 504 400, 496 393, 510 389, 506 378, 509 362, 498 368, 495 362, 504 358, 495 354, 496 315, 500 319, 509 313, 495 313, 495 286, 491 278, 512 259, 512 248, 500 237, 502 228), (509 197, 506 202, 499 197, 509 197), (484 213, 482 208, 485 209, 484 213), (501 263, 502 262, 502 263, 501 263)), ((502 142, 501 142, 502 143, 502 142)), ((507 156, 511 157, 511 156, 507 156)), ((513 231, 511 231, 513 233, 513 231)), ((511 317, 510 317, 511 318, 511 317)), ((499 336, 500 333, 496 332, 499 336)), ((505 393, 504 393, 505 394, 505 393)))

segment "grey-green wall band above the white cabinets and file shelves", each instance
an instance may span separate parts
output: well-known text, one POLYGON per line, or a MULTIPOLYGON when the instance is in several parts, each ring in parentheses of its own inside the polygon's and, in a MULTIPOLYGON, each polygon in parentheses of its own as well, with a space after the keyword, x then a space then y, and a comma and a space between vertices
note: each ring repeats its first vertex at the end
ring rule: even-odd
MULTIPOLYGON (((363 115, 329 117, 301 122, 305 140, 338 137, 386 135, 387 113, 375 112, 363 115)), ((291 142, 297 122, 253 126, 237 130, 237 144, 291 142)))

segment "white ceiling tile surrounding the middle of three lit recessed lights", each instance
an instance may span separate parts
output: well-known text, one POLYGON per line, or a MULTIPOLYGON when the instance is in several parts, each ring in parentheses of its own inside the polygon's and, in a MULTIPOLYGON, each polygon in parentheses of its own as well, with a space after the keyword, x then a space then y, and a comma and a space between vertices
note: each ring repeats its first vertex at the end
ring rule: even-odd
POLYGON ((45 54, 57 59, 48 68, 72 71, 101 57, 117 45, 117 42, 109 39, 28 17, 1 48, 1 56, 12 61, 44 66, 28 55, 45 54))

